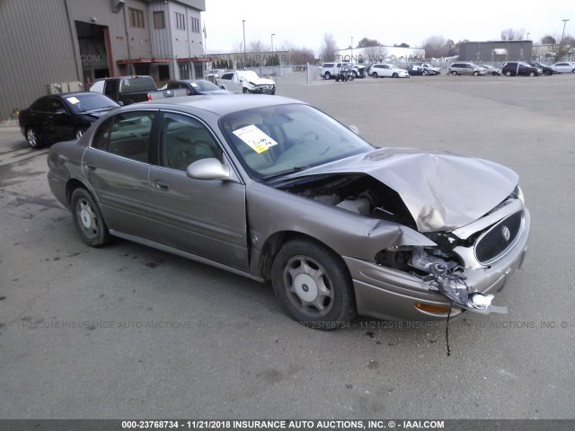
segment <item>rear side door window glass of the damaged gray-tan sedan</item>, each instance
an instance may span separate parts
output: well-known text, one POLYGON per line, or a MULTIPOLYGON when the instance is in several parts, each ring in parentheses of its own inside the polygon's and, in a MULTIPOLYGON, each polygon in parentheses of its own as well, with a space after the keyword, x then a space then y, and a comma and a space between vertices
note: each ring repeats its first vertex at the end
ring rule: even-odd
POLYGON ((102 123, 92 147, 137 162, 148 162, 154 112, 123 112, 102 123))

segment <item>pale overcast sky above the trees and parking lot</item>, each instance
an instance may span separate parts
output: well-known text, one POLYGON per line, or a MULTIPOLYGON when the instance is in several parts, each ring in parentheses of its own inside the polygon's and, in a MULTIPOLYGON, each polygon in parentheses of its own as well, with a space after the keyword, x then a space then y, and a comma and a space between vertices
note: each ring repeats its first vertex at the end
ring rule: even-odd
POLYGON ((324 33, 333 35, 338 48, 348 48, 351 38, 355 47, 364 37, 384 45, 405 42, 411 47, 419 47, 434 35, 456 42, 500 40, 501 31, 509 28, 523 30, 525 36, 529 33, 535 42, 550 33, 561 38, 564 19, 571 19, 565 34, 575 35, 575 0, 206 0, 202 19, 208 53, 243 46, 245 20, 248 48, 255 40, 270 47, 275 33, 275 49, 290 42, 318 55, 324 33))

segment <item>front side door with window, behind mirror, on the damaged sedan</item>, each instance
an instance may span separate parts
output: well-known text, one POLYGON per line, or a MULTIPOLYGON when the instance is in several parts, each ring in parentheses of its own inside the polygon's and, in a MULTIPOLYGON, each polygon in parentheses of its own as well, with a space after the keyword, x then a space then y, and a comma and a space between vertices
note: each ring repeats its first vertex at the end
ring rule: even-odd
POLYGON ((195 161, 217 158, 231 166, 208 127, 189 115, 164 112, 157 163, 150 169, 150 207, 158 241, 226 266, 248 268, 245 185, 196 180, 195 161))

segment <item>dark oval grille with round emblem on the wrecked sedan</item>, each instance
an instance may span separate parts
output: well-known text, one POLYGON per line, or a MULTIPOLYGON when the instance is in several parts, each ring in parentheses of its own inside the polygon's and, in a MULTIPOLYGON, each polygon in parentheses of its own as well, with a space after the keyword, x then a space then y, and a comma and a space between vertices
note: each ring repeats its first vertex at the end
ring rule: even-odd
POLYGON ((475 242, 475 258, 487 264, 500 258, 515 243, 523 222, 523 211, 507 216, 477 239, 475 242))

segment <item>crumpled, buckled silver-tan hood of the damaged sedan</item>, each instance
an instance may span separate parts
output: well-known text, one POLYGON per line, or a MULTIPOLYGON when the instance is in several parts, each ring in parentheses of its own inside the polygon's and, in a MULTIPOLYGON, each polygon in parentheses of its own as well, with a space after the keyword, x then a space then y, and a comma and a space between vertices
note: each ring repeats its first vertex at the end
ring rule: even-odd
POLYGON ((420 232, 450 231, 496 207, 517 186, 505 166, 449 153, 383 148, 298 172, 367 173, 402 197, 420 232))

